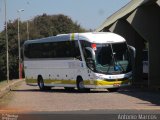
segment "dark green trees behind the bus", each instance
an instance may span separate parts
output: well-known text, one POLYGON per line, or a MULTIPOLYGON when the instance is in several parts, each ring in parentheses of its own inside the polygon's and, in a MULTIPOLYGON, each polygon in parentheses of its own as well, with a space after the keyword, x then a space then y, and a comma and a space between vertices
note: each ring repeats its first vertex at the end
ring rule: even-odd
MULTIPOLYGON (((77 22, 73 22, 68 16, 47 15, 36 16, 29 23, 29 38, 38 39, 57 34, 85 32, 77 22)), ((27 40, 27 22, 20 21, 20 40, 21 47, 27 40)), ((8 41, 9 41, 9 70, 10 79, 18 78, 18 20, 8 22, 8 41)), ((22 52, 21 52, 22 53, 22 52)), ((6 79, 6 42, 5 30, 0 33, 0 80, 6 79)))

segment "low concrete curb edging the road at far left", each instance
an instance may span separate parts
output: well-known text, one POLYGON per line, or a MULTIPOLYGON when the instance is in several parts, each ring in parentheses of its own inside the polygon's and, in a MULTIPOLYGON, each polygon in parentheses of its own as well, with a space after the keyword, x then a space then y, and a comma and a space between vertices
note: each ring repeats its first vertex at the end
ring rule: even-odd
POLYGON ((0 88, 0 98, 2 98, 5 94, 7 94, 8 92, 10 92, 12 88, 14 88, 15 86, 19 85, 23 81, 24 81, 24 79, 14 80, 14 82, 8 83, 7 86, 5 86, 3 88, 0 88))

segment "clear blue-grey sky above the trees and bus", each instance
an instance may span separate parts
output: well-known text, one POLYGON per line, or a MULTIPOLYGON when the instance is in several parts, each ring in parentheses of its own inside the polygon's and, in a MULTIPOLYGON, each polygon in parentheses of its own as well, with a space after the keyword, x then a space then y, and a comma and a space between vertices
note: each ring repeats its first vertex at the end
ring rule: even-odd
MULTIPOLYGON (((4 1, 0 0, 0 31, 4 28, 4 1)), ((6 0, 7 21, 18 18, 31 20, 37 15, 64 14, 85 29, 98 28, 107 17, 125 6, 130 0, 6 0)))

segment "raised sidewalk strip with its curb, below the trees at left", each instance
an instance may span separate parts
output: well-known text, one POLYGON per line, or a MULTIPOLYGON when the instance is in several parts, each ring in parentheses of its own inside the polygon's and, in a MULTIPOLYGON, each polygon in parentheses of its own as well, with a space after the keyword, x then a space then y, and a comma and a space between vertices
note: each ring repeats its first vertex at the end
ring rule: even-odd
POLYGON ((0 98, 3 97, 7 92, 9 92, 13 87, 20 84, 24 79, 16 79, 16 80, 10 80, 9 83, 0 82, 0 98))

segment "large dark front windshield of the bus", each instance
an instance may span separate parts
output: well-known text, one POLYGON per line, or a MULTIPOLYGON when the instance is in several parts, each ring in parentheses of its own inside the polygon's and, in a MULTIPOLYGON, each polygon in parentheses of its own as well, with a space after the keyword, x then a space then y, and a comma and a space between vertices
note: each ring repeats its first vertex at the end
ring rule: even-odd
POLYGON ((103 74, 123 74, 131 71, 131 58, 127 44, 95 44, 95 71, 103 74))

